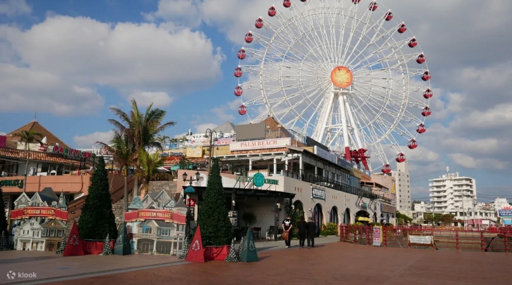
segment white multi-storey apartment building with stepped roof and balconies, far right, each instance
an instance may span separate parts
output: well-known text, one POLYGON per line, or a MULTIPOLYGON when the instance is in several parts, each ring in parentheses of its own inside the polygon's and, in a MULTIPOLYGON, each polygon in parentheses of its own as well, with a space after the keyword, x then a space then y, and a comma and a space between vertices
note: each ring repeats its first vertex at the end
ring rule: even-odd
POLYGON ((463 201, 477 198, 476 181, 471 177, 460 176, 458 172, 447 173, 429 180, 430 201, 435 212, 463 210, 473 205, 463 201))

